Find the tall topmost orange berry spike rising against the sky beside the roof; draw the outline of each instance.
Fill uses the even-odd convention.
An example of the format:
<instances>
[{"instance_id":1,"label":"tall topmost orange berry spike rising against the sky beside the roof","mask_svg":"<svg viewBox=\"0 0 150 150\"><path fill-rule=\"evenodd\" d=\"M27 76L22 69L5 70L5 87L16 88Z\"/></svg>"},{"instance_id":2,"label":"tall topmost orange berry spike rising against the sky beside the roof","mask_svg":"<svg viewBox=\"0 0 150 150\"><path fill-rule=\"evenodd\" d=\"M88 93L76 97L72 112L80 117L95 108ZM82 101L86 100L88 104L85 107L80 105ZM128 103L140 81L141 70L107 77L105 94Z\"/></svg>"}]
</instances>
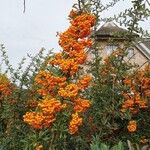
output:
<instances>
[{"instance_id":1,"label":"tall topmost orange berry spike rising against the sky beside the roof","mask_svg":"<svg viewBox=\"0 0 150 150\"><path fill-rule=\"evenodd\" d=\"M87 38L91 33L91 27L95 23L95 16L87 13L78 13L71 11L71 26L69 29L60 34L59 45L63 48L62 53L55 55L50 60L50 64L58 65L63 73L75 75L79 66L82 65L87 54L85 48L92 45L91 39Z\"/></svg>"}]
</instances>

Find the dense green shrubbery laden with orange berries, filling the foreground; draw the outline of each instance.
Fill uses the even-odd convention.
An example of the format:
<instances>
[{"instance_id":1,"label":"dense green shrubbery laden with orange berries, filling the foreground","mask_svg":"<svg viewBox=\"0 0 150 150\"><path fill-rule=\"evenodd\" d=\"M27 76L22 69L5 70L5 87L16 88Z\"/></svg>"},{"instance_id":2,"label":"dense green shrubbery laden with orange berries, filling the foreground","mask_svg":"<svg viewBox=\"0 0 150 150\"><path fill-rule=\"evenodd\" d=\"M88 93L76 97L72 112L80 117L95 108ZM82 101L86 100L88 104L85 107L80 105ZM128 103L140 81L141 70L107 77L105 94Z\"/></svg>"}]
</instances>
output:
<instances>
[{"instance_id":1,"label":"dense green shrubbery laden with orange berries, filling the foreground","mask_svg":"<svg viewBox=\"0 0 150 150\"><path fill-rule=\"evenodd\" d=\"M80 6L81 7L81 6ZM150 142L150 66L127 63L126 47L104 60L90 38L97 16L73 9L59 35L62 52L43 49L24 71L0 74L0 149L123 150ZM87 61L87 50L94 59ZM10 79L8 78L10 77ZM130 142L131 141L131 142Z\"/></svg>"}]
</instances>

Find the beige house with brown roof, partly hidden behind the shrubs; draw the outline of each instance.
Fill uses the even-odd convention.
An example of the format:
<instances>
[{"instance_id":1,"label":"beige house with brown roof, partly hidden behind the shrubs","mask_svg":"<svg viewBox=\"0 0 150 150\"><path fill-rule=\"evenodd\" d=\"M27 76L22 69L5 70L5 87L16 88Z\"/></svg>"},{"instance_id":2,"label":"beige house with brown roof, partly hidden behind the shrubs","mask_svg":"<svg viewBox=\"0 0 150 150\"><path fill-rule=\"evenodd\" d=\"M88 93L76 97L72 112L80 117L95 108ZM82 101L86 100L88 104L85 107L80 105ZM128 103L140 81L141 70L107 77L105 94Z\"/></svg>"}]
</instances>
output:
<instances>
[{"instance_id":1,"label":"beige house with brown roof, partly hidden behind the shrubs","mask_svg":"<svg viewBox=\"0 0 150 150\"><path fill-rule=\"evenodd\" d=\"M114 22L104 23L95 33L102 58L110 55L118 46L123 48L129 31L117 26ZM133 37L133 38L132 38ZM127 48L126 61L143 67L150 62L150 38L139 40L138 34L132 34L131 46Z\"/></svg>"}]
</instances>

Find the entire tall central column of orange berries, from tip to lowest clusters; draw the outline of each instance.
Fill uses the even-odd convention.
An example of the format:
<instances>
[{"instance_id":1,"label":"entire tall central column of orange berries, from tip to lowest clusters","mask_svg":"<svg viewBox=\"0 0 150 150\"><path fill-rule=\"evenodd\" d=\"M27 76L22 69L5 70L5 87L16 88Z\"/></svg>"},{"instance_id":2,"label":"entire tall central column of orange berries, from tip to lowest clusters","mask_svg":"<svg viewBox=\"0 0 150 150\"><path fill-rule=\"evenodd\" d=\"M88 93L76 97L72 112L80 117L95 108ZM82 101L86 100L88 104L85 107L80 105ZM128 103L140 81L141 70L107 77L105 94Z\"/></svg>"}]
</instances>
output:
<instances>
[{"instance_id":1,"label":"entire tall central column of orange berries, from tip to lowest clusters","mask_svg":"<svg viewBox=\"0 0 150 150\"><path fill-rule=\"evenodd\" d=\"M56 120L57 112L71 108L73 114L69 123L69 133L75 134L82 124L82 113L90 107L90 101L81 98L80 92L88 87L91 77L85 75L77 79L76 73L86 61L85 49L92 45L89 35L95 23L95 16L75 10L72 10L69 16L71 26L59 35L59 45L63 51L55 54L48 62L48 65L57 67L62 75L56 76L49 71L37 74L35 84L38 93L51 98L44 98L39 102L37 112L27 112L24 121L37 129L50 127Z\"/></svg>"}]
</instances>

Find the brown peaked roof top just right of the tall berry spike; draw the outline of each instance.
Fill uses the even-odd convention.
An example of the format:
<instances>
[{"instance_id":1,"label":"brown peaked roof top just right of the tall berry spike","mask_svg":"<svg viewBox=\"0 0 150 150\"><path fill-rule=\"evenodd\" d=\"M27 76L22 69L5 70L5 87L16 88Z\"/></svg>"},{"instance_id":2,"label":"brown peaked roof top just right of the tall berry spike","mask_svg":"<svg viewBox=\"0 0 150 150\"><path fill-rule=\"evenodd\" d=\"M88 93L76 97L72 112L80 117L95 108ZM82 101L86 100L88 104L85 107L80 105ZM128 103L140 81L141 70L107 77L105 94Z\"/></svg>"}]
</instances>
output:
<instances>
[{"instance_id":1,"label":"brown peaked roof top just right of the tall berry spike","mask_svg":"<svg viewBox=\"0 0 150 150\"><path fill-rule=\"evenodd\" d=\"M108 38L117 38L117 39L125 39L125 35L128 34L129 31L117 26L114 22L106 22L104 23L95 33L98 39L108 39ZM138 34L134 33L134 36L138 36Z\"/></svg>"}]
</instances>

